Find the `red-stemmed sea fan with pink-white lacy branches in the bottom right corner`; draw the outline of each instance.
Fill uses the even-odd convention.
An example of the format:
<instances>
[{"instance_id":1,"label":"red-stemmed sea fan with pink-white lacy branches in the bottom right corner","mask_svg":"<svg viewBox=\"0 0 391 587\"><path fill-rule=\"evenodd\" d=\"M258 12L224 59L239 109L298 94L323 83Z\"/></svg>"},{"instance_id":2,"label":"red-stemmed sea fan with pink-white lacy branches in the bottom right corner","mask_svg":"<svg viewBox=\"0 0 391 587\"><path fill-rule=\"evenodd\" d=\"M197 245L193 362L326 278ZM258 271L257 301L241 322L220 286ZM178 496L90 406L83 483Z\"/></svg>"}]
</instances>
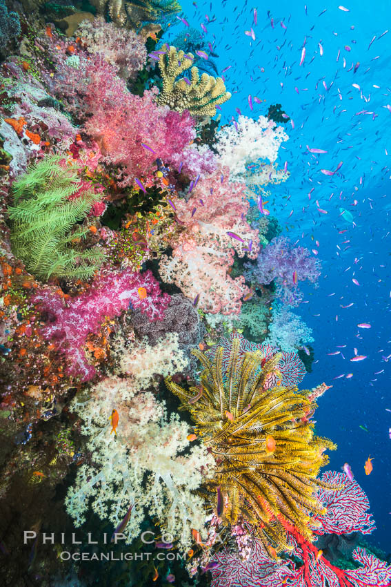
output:
<instances>
[{"instance_id":1,"label":"red-stemmed sea fan with pink-white lacy branches in the bottom right corner","mask_svg":"<svg viewBox=\"0 0 391 587\"><path fill-rule=\"evenodd\" d=\"M324 517L317 517L316 534L337 534L374 530L369 501L356 481L349 481L343 473L327 471L322 481L345 483L335 492L321 488L319 499L328 507ZM282 521L282 520L281 520ZM252 551L241 559L237 551L225 548L214 556L217 567L212 570L212 587L388 587L391 584L391 566L377 559L363 548L356 548L353 559L362 566L342 570L332 565L315 544L300 535L297 528L282 521L290 535L294 550L292 559L270 559L259 541L252 541ZM300 562L299 562L300 561Z\"/></svg>"}]
</instances>

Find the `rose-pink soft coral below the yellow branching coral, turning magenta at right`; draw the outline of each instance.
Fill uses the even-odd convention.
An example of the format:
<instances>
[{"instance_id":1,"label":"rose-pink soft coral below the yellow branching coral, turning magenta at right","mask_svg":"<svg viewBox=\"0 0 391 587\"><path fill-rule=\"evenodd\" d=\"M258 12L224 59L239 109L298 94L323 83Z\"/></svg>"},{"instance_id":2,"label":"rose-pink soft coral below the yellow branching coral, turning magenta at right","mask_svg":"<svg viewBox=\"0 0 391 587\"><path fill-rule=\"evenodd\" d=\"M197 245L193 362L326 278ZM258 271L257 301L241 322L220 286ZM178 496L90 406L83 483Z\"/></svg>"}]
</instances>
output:
<instances>
[{"instance_id":1,"label":"rose-pink soft coral below the yellow branching coral, turning magenta at right","mask_svg":"<svg viewBox=\"0 0 391 587\"><path fill-rule=\"evenodd\" d=\"M106 162L122 167L123 185L146 177L156 169L158 157L170 160L194 139L194 120L188 111L157 106L157 90L146 90L143 97L132 95L100 56L91 60L87 73L83 91L92 116L84 128L98 142Z\"/></svg>"}]
</instances>

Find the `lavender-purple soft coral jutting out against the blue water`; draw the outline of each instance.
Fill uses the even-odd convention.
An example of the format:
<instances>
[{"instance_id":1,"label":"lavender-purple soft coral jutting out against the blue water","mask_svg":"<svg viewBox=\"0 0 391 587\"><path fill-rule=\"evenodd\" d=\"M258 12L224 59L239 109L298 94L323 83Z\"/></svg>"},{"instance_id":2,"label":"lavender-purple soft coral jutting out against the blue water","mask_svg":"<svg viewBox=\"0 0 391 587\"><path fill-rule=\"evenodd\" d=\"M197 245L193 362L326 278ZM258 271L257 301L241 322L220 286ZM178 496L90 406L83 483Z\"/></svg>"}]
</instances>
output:
<instances>
[{"instance_id":1,"label":"lavender-purple soft coral jutting out against the blue water","mask_svg":"<svg viewBox=\"0 0 391 587\"><path fill-rule=\"evenodd\" d=\"M245 278L251 282L268 285L273 280L277 297L285 304L296 306L301 301L299 281L316 283L320 274L320 263L310 257L304 247L294 247L288 238L274 238L262 249L257 264L245 264Z\"/></svg>"}]
</instances>

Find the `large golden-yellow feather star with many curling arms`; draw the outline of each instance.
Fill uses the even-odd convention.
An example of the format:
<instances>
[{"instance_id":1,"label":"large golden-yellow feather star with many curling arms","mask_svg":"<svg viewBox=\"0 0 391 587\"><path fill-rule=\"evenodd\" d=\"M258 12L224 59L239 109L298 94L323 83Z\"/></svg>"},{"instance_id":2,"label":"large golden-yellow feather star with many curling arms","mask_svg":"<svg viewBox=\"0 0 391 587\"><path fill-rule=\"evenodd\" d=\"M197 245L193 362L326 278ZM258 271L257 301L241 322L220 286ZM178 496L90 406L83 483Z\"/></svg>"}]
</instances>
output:
<instances>
[{"instance_id":1,"label":"large golden-yellow feather star with many curling arms","mask_svg":"<svg viewBox=\"0 0 391 587\"><path fill-rule=\"evenodd\" d=\"M213 362L192 351L204 367L201 389L184 389L170 377L166 385L181 400L180 409L189 410L196 422L194 432L216 459L214 479L203 486L212 508L216 510L219 487L225 503L223 523L250 524L275 556L292 550L282 522L293 524L311 541L310 522L314 527L314 517L325 513L317 490L341 489L317 479L328 463L324 451L336 445L314 436L309 418L317 405L312 392L283 385L267 388L281 353L265 361L259 351L240 354L239 345L239 339L232 340L226 369L223 347Z\"/></svg>"}]
</instances>

